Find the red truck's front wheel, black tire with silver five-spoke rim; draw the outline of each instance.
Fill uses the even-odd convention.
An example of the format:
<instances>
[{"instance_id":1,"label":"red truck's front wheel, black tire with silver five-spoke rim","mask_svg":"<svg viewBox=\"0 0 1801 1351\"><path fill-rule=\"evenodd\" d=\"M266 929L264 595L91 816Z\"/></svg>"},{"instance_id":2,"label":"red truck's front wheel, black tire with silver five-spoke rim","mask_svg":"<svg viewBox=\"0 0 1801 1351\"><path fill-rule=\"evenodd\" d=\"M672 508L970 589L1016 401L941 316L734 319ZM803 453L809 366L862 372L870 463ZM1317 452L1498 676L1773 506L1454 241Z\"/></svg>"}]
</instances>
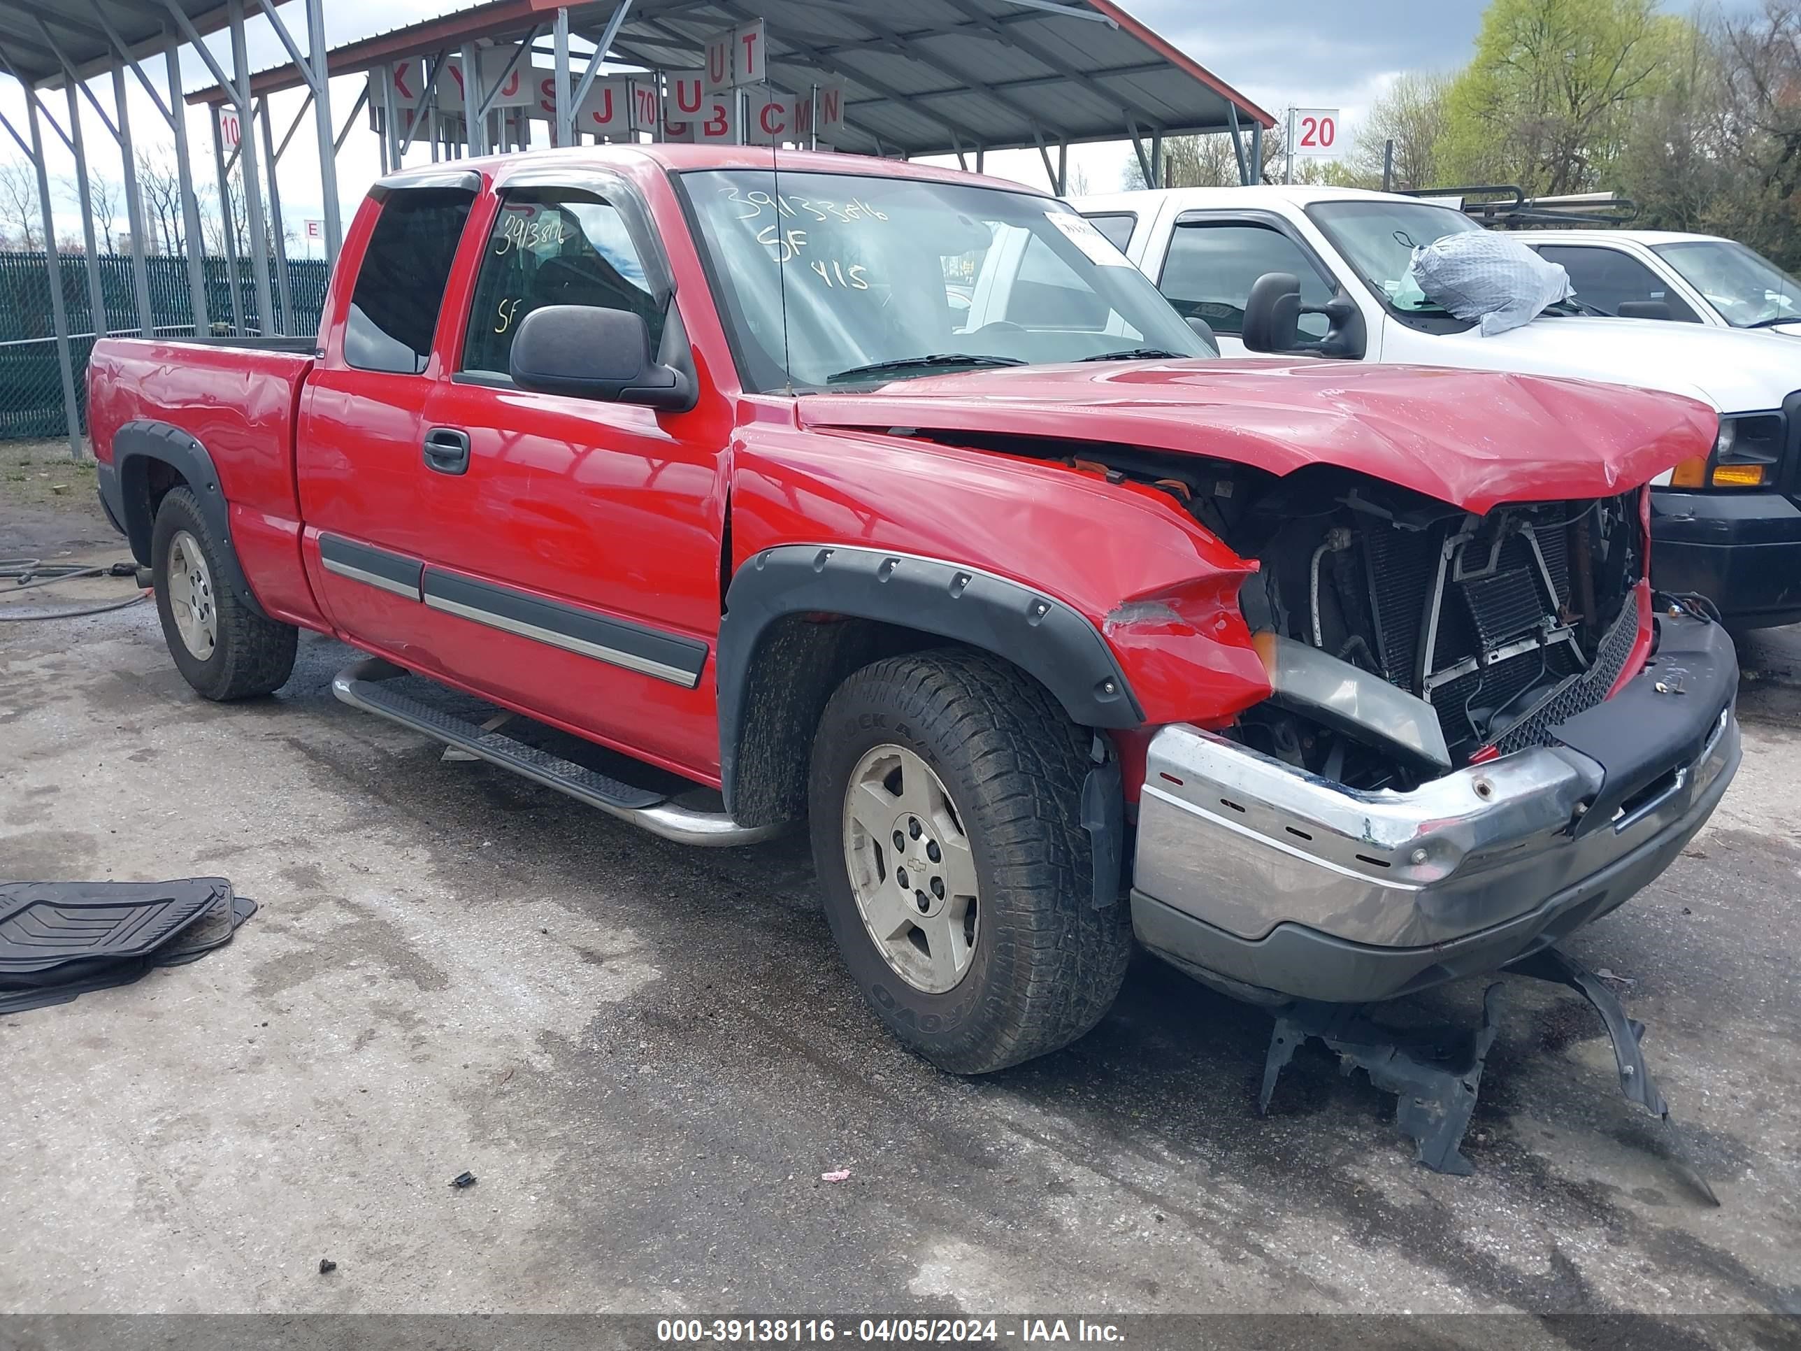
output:
<instances>
[{"instance_id":1,"label":"red truck's front wheel, black tire with silver five-spoke rim","mask_svg":"<svg viewBox=\"0 0 1801 1351\"><path fill-rule=\"evenodd\" d=\"M810 782L827 920L888 1030L944 1070L1057 1050L1118 994L1131 928L1093 904L1090 744L982 652L877 661L827 703Z\"/></svg>"}]
</instances>

